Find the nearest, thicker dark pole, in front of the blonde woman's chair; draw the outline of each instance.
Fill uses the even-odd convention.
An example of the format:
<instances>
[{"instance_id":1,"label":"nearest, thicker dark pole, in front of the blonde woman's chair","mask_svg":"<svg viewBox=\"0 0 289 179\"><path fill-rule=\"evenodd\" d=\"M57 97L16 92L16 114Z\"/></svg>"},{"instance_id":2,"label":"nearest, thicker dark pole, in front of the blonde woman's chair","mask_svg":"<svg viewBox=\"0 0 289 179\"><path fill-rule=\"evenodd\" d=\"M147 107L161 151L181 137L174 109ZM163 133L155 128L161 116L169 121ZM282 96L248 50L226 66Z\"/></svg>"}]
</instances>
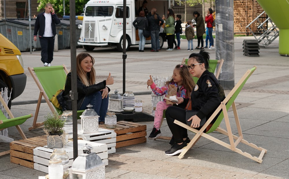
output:
<instances>
[{"instance_id":1,"label":"nearest, thicker dark pole, in front of the blonde woman's chair","mask_svg":"<svg viewBox=\"0 0 289 179\"><path fill-rule=\"evenodd\" d=\"M78 156L77 146L77 72L76 72L76 29L75 29L75 0L69 1L70 7L70 56L71 56L71 100L73 119L73 160Z\"/></svg>"}]
</instances>

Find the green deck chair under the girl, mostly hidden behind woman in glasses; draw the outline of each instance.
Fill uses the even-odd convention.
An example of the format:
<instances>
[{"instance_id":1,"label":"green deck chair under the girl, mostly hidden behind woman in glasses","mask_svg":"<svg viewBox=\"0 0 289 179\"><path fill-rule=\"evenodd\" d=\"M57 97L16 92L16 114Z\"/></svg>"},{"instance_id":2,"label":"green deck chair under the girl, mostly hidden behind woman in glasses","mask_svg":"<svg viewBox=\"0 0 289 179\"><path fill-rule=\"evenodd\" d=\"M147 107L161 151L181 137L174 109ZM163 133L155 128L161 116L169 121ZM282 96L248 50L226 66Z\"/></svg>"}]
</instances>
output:
<instances>
[{"instance_id":1,"label":"green deck chair under the girl, mostly hidden behind woman in glasses","mask_svg":"<svg viewBox=\"0 0 289 179\"><path fill-rule=\"evenodd\" d=\"M217 79L218 79L218 77L219 77L219 75L220 75L220 72L221 72L221 68L222 68L222 66L223 66L223 63L224 63L224 60L223 60L223 59L221 59L221 60L210 60L210 61L209 61L209 66L210 66L209 71L212 72L212 73L215 73L217 64L219 64L218 70L217 70L217 72L216 72L216 78L217 78ZM181 64L186 64L186 65L187 65L187 64L188 64L188 59L183 58ZM199 80L199 78L197 78L197 77L192 77L192 78L193 78L193 80L194 80L195 83L197 83L197 81ZM164 110L163 118L166 118L166 110ZM162 122L163 122L163 120L162 120ZM161 125L160 125L160 126L162 126L162 122L161 122ZM171 140L172 137L159 136L159 137L157 137L157 139Z\"/></svg>"}]
</instances>

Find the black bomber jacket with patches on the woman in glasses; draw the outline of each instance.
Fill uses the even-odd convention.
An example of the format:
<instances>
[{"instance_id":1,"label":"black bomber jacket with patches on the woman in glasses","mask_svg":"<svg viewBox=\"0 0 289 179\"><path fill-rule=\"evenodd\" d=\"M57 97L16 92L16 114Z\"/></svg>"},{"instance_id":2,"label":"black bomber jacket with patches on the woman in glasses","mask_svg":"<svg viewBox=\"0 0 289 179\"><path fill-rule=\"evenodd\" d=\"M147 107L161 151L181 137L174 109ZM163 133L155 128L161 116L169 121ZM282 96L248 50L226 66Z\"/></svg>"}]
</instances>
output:
<instances>
[{"instance_id":1,"label":"black bomber jacket with patches on the woman in glasses","mask_svg":"<svg viewBox=\"0 0 289 179\"><path fill-rule=\"evenodd\" d=\"M206 117L208 120L221 102L225 99L225 93L215 75L206 70L203 72L196 86L194 87L194 90L191 93L191 99L192 109L199 110L196 115L200 119ZM187 105L188 102L189 98L184 98L184 105ZM211 123L216 121L218 115Z\"/></svg>"}]
</instances>

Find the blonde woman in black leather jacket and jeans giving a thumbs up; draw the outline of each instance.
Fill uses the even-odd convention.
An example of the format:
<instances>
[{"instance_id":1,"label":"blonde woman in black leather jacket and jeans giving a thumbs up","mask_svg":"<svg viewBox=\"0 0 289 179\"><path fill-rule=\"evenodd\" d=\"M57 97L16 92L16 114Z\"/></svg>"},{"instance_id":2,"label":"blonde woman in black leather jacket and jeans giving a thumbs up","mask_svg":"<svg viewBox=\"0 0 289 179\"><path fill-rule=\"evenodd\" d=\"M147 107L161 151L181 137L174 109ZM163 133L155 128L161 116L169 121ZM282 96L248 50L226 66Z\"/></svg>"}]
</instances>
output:
<instances>
[{"instance_id":1,"label":"blonde woman in black leather jacket and jeans giving a thumbs up","mask_svg":"<svg viewBox=\"0 0 289 179\"><path fill-rule=\"evenodd\" d=\"M104 117L108 109L108 93L109 87L114 79L110 77L100 83L95 84L95 69L93 64L94 58L88 53L79 53L76 57L77 61L77 110L87 109L87 105L91 104L95 112L100 116L99 123L104 123ZM71 91L71 72L67 74L64 93L62 94L65 104L62 106L63 111L72 110L70 92Z\"/></svg>"}]
</instances>

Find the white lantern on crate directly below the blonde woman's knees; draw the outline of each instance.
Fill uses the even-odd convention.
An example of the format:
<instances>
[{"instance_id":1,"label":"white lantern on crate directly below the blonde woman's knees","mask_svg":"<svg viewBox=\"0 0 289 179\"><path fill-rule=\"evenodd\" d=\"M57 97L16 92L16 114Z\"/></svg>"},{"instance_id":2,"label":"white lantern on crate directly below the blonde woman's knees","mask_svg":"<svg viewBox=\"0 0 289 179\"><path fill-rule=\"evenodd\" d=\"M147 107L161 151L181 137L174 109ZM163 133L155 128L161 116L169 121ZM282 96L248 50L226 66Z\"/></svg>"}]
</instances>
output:
<instances>
[{"instance_id":1,"label":"white lantern on crate directly below the blonde woman's knees","mask_svg":"<svg viewBox=\"0 0 289 179\"><path fill-rule=\"evenodd\" d=\"M92 108L92 105L86 106L88 109L83 111L80 116L81 119L81 132L82 133L95 133L98 132L98 118L99 115Z\"/></svg>"}]
</instances>

